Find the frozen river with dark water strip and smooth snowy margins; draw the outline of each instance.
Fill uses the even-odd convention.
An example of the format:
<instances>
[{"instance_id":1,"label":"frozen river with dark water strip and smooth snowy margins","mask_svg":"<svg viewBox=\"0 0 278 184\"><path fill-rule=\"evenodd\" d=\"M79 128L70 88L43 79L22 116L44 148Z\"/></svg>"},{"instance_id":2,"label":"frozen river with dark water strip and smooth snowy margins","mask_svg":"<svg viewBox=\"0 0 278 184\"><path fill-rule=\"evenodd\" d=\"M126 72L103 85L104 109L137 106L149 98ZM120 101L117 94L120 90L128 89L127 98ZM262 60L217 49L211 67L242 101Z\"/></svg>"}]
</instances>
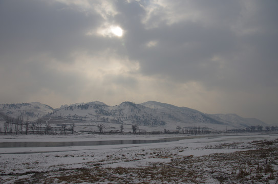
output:
<instances>
[{"instance_id":1,"label":"frozen river with dark water strip and smooth snowy margins","mask_svg":"<svg viewBox=\"0 0 278 184\"><path fill-rule=\"evenodd\" d=\"M95 135L94 135L95 136ZM105 150L118 148L140 147L171 147L171 146L206 146L223 142L251 142L254 140L277 139L278 135L199 135L175 136L171 135L96 135L95 137L51 137L51 136L26 136L0 140L0 154L7 153L47 153L68 152L77 150Z\"/></svg>"}]
</instances>

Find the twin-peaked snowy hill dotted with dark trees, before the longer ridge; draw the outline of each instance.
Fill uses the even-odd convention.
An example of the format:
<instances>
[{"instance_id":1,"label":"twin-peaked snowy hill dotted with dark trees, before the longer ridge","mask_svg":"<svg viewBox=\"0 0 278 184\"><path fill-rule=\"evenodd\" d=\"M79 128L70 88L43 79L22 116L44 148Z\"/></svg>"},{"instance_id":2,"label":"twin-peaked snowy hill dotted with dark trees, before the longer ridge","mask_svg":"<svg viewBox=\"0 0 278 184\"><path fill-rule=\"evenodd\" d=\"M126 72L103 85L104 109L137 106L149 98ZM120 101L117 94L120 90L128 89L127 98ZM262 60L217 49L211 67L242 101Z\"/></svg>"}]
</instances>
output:
<instances>
[{"instance_id":1,"label":"twin-peaked snowy hill dotted with dark trees, before the longer ridge","mask_svg":"<svg viewBox=\"0 0 278 184\"><path fill-rule=\"evenodd\" d=\"M108 106L98 101L73 104L56 110L50 114L50 117L75 121L139 124L146 126L165 125L165 122L161 120L161 116L156 110L132 102L123 102L116 106Z\"/></svg>"}]
</instances>

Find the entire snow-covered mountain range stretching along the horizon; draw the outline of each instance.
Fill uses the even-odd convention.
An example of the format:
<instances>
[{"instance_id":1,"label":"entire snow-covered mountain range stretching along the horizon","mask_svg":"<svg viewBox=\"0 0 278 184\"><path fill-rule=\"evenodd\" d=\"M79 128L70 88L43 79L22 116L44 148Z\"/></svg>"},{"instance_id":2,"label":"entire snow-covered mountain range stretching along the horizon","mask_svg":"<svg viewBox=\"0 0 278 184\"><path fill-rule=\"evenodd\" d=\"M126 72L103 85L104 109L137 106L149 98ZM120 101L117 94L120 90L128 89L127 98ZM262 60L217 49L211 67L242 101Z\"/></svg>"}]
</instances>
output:
<instances>
[{"instance_id":1,"label":"entire snow-covered mountain range stretching along the horizon","mask_svg":"<svg viewBox=\"0 0 278 184\"><path fill-rule=\"evenodd\" d=\"M2 104L0 112L10 117L26 116L29 121L42 121L52 124L85 123L96 126L99 123L149 127L152 130L175 130L177 126L208 127L215 130L244 129L247 126L263 125L257 119L242 118L237 114L206 114L187 107L148 101L141 104L123 102L116 106L108 106L102 102L76 103L62 105L58 109L38 102L23 104ZM147 128L148 129L148 128Z\"/></svg>"}]
</instances>

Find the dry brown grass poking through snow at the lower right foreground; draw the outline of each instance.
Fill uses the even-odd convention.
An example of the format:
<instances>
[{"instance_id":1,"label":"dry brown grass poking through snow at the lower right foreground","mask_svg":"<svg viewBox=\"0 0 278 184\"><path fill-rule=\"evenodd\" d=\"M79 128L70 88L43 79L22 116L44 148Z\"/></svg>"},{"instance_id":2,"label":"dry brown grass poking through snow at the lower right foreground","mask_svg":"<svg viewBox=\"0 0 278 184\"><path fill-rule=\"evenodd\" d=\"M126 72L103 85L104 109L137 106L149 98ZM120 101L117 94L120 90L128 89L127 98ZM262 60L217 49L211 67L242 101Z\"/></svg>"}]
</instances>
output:
<instances>
[{"instance_id":1,"label":"dry brown grass poking through snow at the lower right foreground","mask_svg":"<svg viewBox=\"0 0 278 184\"><path fill-rule=\"evenodd\" d=\"M215 183L268 183L277 179L277 143L277 140L252 142L247 145L252 146L252 150L198 157L172 155L159 150L143 151L137 155L141 159L172 157L172 160L144 168L101 168L100 163L91 163L90 168L34 173L32 177L18 179L15 183L207 183L209 179ZM183 149L177 148L177 152L180 150ZM125 159L125 155L120 156ZM118 159L113 157L108 155L107 159L116 162Z\"/></svg>"}]
</instances>

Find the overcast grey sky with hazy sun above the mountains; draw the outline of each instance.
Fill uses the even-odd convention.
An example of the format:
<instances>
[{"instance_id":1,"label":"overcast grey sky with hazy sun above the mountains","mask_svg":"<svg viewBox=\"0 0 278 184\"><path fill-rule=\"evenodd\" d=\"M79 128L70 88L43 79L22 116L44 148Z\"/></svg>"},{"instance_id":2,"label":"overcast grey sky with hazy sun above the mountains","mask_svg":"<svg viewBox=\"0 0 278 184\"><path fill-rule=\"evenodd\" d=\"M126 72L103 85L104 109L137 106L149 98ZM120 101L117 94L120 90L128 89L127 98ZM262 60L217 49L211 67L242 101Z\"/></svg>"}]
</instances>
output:
<instances>
[{"instance_id":1,"label":"overcast grey sky with hazy sun above the mountains","mask_svg":"<svg viewBox=\"0 0 278 184\"><path fill-rule=\"evenodd\" d=\"M278 1L0 0L0 103L149 100L278 124Z\"/></svg>"}]
</instances>

